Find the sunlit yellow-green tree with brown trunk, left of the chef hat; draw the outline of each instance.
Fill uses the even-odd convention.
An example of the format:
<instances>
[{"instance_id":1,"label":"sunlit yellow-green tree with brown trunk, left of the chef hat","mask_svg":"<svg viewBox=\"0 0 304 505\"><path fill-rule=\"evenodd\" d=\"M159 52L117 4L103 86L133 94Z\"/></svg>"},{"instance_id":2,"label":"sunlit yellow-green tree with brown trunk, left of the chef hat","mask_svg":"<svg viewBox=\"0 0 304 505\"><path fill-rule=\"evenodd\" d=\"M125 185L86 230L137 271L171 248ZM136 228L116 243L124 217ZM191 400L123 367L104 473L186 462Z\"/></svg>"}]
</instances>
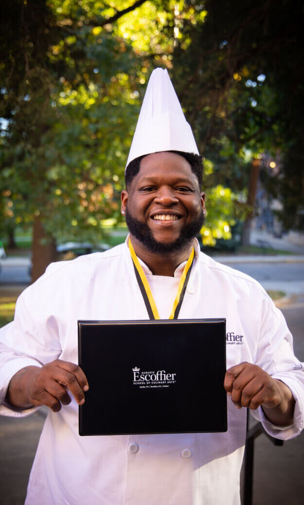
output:
<instances>
[{"instance_id":1,"label":"sunlit yellow-green tree with brown trunk, left of the chef hat","mask_svg":"<svg viewBox=\"0 0 304 505\"><path fill-rule=\"evenodd\" d=\"M10 4L1 35L0 190L6 220L34 223L33 280L54 258L55 238L98 240L105 218L119 222L140 98L154 65L172 67L177 10L172 1ZM227 235L225 226L215 224L217 233Z\"/></svg>"}]
</instances>

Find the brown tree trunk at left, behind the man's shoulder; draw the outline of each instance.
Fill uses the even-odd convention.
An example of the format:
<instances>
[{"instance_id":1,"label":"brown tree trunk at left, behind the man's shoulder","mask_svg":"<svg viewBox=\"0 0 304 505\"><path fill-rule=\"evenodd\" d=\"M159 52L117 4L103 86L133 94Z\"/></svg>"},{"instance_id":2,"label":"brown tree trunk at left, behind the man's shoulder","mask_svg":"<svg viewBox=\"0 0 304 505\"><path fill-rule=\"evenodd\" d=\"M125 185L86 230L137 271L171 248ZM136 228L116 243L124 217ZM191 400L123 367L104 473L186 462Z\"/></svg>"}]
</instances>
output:
<instances>
[{"instance_id":1,"label":"brown tree trunk at left, behind the man's shoulder","mask_svg":"<svg viewBox=\"0 0 304 505\"><path fill-rule=\"evenodd\" d=\"M52 261L56 261L56 241L45 232L40 217L36 217L33 226L32 282L44 273Z\"/></svg>"}]
</instances>

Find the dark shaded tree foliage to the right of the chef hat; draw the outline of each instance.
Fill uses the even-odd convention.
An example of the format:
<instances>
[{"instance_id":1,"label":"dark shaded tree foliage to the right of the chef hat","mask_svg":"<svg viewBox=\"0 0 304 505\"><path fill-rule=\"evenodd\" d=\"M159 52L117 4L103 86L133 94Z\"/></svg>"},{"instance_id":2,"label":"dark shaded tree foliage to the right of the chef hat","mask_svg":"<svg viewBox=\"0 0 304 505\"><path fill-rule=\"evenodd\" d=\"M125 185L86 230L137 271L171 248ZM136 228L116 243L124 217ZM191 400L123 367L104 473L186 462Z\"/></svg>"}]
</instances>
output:
<instances>
[{"instance_id":1,"label":"dark shaded tree foliage to the right of the chef hat","mask_svg":"<svg viewBox=\"0 0 304 505\"><path fill-rule=\"evenodd\" d=\"M207 184L240 191L250 158L279 151L280 173L264 180L280 195L285 226L303 229L302 3L207 0L203 12L201 3L189 5L200 17L196 24L180 19L172 61L200 151L214 165Z\"/></svg>"}]
</instances>

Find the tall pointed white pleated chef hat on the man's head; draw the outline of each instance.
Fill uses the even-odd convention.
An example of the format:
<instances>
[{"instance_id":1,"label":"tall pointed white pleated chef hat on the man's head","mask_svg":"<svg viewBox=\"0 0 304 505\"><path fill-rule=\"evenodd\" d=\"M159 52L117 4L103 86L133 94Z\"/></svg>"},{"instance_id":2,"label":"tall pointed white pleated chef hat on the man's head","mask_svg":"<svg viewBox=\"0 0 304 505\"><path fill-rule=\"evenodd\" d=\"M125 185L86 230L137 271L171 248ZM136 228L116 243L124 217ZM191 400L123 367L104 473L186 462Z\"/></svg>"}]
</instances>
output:
<instances>
[{"instance_id":1,"label":"tall pointed white pleated chef hat on the man's head","mask_svg":"<svg viewBox=\"0 0 304 505\"><path fill-rule=\"evenodd\" d=\"M199 154L169 74L156 68L146 88L126 168L135 158L160 151Z\"/></svg>"}]
</instances>

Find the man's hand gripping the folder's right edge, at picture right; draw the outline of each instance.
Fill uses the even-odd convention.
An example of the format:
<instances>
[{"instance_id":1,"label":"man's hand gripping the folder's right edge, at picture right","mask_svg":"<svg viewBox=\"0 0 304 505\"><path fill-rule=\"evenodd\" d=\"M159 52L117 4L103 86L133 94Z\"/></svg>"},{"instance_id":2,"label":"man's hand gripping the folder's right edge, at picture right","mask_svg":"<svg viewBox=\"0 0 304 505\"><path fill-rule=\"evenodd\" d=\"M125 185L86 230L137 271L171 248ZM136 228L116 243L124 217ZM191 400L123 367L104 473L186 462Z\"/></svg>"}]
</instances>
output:
<instances>
[{"instance_id":1,"label":"man's hand gripping the folder's right edge, at picture right","mask_svg":"<svg viewBox=\"0 0 304 505\"><path fill-rule=\"evenodd\" d=\"M240 363L227 370L224 388L234 405L256 410L262 405L267 418L278 426L293 422L294 398L280 380L251 363Z\"/></svg>"}]
</instances>

